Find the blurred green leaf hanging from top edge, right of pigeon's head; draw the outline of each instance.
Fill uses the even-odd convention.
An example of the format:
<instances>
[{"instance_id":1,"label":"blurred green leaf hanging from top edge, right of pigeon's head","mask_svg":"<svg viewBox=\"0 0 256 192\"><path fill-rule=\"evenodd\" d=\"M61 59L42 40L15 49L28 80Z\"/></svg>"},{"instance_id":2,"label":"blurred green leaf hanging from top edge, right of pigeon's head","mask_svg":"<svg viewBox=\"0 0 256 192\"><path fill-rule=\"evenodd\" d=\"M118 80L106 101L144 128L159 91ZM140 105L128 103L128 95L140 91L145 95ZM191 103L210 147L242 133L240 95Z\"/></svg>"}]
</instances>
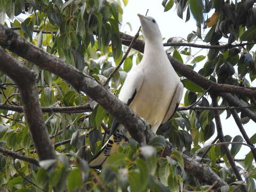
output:
<instances>
[{"instance_id":1,"label":"blurred green leaf hanging from top edge, right of pigeon's head","mask_svg":"<svg viewBox=\"0 0 256 192\"><path fill-rule=\"evenodd\" d=\"M190 11L197 22L202 23L203 17L203 2L202 0L189 0Z\"/></svg>"}]
</instances>

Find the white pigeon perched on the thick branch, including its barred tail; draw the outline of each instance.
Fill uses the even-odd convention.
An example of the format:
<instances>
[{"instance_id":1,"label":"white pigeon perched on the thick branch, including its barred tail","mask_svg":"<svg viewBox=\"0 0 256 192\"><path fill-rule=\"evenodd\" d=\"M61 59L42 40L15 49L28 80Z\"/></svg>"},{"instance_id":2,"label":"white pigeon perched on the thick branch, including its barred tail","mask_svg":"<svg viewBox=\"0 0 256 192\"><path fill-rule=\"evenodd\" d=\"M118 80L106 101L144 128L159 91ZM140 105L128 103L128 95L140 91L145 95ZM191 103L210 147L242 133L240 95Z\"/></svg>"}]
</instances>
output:
<instances>
[{"instance_id":1,"label":"white pigeon perched on the thick branch, including its barred tail","mask_svg":"<svg viewBox=\"0 0 256 192\"><path fill-rule=\"evenodd\" d=\"M139 65L127 75L118 98L145 119L155 133L177 109L182 98L183 84L167 58L156 20L141 14L138 16L145 38L144 56ZM100 168L107 157L116 153L119 145L129 137L124 126L114 121L110 138L94 155L90 166Z\"/></svg>"}]
</instances>

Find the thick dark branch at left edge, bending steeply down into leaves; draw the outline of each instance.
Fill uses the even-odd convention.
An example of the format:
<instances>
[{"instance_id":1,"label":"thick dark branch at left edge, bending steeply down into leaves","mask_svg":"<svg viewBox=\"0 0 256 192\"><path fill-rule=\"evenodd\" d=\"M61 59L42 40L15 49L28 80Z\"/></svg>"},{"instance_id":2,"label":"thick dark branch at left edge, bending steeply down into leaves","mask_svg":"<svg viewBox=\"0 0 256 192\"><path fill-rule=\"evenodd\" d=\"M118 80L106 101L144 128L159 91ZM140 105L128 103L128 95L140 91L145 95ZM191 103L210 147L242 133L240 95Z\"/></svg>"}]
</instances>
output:
<instances>
[{"instance_id":1,"label":"thick dark branch at left edge, bending steeply down into leaves","mask_svg":"<svg viewBox=\"0 0 256 192\"><path fill-rule=\"evenodd\" d=\"M36 74L0 47L0 70L18 85L23 110L40 160L56 157L47 134L36 90Z\"/></svg>"}]
</instances>

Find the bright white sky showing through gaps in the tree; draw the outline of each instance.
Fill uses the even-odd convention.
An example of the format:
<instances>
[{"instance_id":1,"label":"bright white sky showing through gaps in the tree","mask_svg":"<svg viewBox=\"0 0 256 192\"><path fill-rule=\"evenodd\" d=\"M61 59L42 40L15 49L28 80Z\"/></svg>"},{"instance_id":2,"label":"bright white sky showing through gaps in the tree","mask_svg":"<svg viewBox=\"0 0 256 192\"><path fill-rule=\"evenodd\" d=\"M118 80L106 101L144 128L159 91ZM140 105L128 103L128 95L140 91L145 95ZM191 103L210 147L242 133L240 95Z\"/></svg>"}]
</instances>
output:
<instances>
[{"instance_id":1,"label":"bright white sky showing through gaps in the tree","mask_svg":"<svg viewBox=\"0 0 256 192\"><path fill-rule=\"evenodd\" d=\"M158 26L162 31L163 37L166 38L165 41L170 37L176 36L187 39L187 35L191 33L191 31L196 31L196 22L191 14L190 20L185 23L185 20L182 20L178 17L175 10L175 4L170 11L164 12L162 0L129 0L128 5L124 7L121 31L127 31L128 34L135 35L140 26L137 14L140 13L145 15L147 9L149 9L148 15L156 19ZM186 18L186 12L183 14L183 18ZM129 26L125 25L126 22L131 23L132 31L130 31ZM199 43L203 44L203 42ZM199 49L194 49L193 53L196 53L197 51L199 51ZM201 54L205 53L206 52L204 51ZM200 53L198 55L200 55ZM204 62L197 64L199 68L202 68L203 65ZM253 84L255 85L255 82L253 82ZM226 112L221 115L223 133L225 135L229 134L233 138L238 134L241 135L233 117L230 117L228 119L225 118ZM255 123L250 120L249 123L244 125L244 129L249 137L251 137L256 132ZM216 137L216 135L217 133L215 130L214 137ZM244 155L246 155L249 151L249 147L242 146L241 150L236 155L236 158L244 158Z\"/></svg>"}]
</instances>

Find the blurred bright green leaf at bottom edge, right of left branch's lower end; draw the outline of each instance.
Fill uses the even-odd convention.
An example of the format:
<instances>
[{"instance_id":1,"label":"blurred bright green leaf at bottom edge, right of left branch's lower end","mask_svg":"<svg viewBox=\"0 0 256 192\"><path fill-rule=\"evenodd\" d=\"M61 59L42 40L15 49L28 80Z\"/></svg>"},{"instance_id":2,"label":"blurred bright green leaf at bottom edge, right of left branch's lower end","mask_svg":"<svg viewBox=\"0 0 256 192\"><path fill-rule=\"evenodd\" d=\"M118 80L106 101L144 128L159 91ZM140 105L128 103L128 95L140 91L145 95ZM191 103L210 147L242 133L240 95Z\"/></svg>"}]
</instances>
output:
<instances>
[{"instance_id":1,"label":"blurred bright green leaf at bottom edge, right of left branch's lower end","mask_svg":"<svg viewBox=\"0 0 256 192\"><path fill-rule=\"evenodd\" d=\"M79 169L73 169L68 174L67 179L68 191L75 191L82 186L82 175Z\"/></svg>"}]
</instances>

